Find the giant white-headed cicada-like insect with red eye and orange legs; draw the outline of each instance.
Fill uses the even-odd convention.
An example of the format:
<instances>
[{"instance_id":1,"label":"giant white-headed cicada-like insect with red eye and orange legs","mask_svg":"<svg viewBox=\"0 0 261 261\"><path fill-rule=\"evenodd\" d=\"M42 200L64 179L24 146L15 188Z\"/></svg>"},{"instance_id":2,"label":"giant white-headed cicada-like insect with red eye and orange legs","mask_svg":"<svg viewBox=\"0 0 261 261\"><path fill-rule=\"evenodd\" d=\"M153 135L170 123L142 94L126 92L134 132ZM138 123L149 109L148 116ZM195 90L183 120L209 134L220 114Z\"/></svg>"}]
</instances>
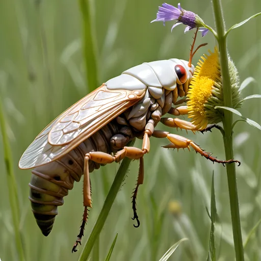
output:
<instances>
[{"instance_id":1,"label":"giant white-headed cicada-like insect with red eye and orange legs","mask_svg":"<svg viewBox=\"0 0 261 261\"><path fill-rule=\"evenodd\" d=\"M124 71L77 101L51 122L23 153L19 167L31 169L30 200L36 222L44 236L51 231L57 207L73 188L74 181L84 176L84 215L80 233L72 251L80 242L91 207L89 173L100 165L120 162L124 157L140 161L138 182L133 194L134 219L138 187L143 183L143 156L150 149L150 137L167 138L167 148L193 147L206 159L220 161L185 137L155 130L162 122L170 127L197 131L192 123L178 118L164 118L166 113L186 115L185 99L194 73L191 64L193 46L188 61L170 59L143 63ZM135 137L143 139L142 148L128 147Z\"/></svg>"}]
</instances>

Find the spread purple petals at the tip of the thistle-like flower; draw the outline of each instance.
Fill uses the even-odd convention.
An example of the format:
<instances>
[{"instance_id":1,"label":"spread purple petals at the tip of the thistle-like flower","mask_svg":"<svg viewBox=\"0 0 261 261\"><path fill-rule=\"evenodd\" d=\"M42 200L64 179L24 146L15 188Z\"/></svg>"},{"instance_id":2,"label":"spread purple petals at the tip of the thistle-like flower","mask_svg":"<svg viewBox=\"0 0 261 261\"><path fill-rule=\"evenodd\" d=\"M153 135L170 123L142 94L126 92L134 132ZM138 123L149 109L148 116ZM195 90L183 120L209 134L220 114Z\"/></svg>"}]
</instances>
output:
<instances>
[{"instance_id":1,"label":"spread purple petals at the tip of the thistle-like flower","mask_svg":"<svg viewBox=\"0 0 261 261\"><path fill-rule=\"evenodd\" d=\"M151 22L177 20L180 14L181 11L178 8L164 3L162 7L159 7L157 18Z\"/></svg>"}]
</instances>

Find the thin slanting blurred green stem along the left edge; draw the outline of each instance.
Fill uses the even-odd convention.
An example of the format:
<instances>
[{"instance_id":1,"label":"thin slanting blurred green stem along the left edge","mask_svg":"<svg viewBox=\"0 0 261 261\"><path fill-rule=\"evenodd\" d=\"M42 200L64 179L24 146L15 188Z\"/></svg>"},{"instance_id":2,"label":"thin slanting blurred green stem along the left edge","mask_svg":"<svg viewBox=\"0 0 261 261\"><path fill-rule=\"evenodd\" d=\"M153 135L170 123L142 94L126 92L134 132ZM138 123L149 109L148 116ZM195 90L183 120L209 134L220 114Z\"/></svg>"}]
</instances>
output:
<instances>
[{"instance_id":1,"label":"thin slanting blurred green stem along the left edge","mask_svg":"<svg viewBox=\"0 0 261 261\"><path fill-rule=\"evenodd\" d=\"M19 260L25 261L23 247L22 247L22 238L19 230L20 211L19 211L17 185L14 177L12 153L8 141L7 132L6 132L6 123L5 123L1 99L0 99L0 125L1 125L1 132L3 138L4 160L5 160L6 173L7 173L7 186L8 186L9 200L11 205L12 219L13 219L16 249L17 249L17 254L19 256Z\"/></svg>"}]
</instances>

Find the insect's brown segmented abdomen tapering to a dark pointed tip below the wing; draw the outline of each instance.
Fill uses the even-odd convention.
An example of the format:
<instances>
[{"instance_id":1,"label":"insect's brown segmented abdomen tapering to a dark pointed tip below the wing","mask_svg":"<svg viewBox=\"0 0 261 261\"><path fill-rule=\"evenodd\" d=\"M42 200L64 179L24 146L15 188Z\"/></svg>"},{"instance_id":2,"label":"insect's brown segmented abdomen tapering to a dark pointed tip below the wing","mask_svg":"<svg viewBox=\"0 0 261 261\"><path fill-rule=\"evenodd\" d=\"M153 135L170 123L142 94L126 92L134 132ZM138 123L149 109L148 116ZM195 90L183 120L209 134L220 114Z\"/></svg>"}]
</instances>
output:
<instances>
[{"instance_id":1,"label":"insect's brown segmented abdomen tapering to a dark pointed tip below the wing","mask_svg":"<svg viewBox=\"0 0 261 261\"><path fill-rule=\"evenodd\" d=\"M80 181L83 174L84 155L90 151L111 153L110 139L118 133L118 125L108 123L71 150L61 159L35 168L30 181L32 211L44 236L53 228L57 207L63 205L63 197L73 188L74 181ZM89 172L98 169L99 164L89 161Z\"/></svg>"}]
</instances>

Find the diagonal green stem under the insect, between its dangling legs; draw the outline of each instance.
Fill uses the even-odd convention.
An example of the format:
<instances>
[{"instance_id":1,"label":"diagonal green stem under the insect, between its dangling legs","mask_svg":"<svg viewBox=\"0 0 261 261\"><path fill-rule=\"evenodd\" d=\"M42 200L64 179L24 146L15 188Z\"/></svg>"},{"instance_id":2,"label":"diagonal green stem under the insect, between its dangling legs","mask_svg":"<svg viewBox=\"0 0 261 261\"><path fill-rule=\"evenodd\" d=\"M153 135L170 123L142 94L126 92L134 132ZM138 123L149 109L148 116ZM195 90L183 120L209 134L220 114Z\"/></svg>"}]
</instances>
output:
<instances>
[{"instance_id":1,"label":"diagonal green stem under the insect, between its dangling legs","mask_svg":"<svg viewBox=\"0 0 261 261\"><path fill-rule=\"evenodd\" d=\"M128 146L133 146L135 140L130 142ZM124 158L118 171L117 174L114 178L113 184L111 186L111 189L106 197L106 200L102 206L102 209L100 211L100 214L98 216L98 219L90 233L90 236L87 240L87 242L84 245L83 252L81 253L81 256L79 258L79 261L86 261L91 253L91 250L93 248L93 245L97 238L99 237L100 231L105 224L105 221L109 215L109 212L111 210L112 204L116 198L116 195L121 187L122 181L124 180L124 177L126 175L126 172L128 170L128 166L131 163L131 159Z\"/></svg>"}]
</instances>

